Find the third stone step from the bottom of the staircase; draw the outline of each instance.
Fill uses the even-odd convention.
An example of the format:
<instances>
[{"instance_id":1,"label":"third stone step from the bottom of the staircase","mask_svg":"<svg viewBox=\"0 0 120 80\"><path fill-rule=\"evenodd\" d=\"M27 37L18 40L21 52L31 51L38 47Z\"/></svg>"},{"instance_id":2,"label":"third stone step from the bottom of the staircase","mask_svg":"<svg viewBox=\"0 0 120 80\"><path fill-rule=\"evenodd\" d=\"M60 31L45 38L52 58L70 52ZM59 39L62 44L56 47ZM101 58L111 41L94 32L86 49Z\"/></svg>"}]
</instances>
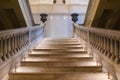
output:
<instances>
[{"instance_id":1,"label":"third stone step from the bottom of the staircase","mask_svg":"<svg viewBox=\"0 0 120 80\"><path fill-rule=\"evenodd\" d=\"M97 66L97 63L94 61L39 61L26 59L25 61L21 61L22 66L39 66L39 67L91 67ZM100 66L100 65L99 65Z\"/></svg>"}]
</instances>

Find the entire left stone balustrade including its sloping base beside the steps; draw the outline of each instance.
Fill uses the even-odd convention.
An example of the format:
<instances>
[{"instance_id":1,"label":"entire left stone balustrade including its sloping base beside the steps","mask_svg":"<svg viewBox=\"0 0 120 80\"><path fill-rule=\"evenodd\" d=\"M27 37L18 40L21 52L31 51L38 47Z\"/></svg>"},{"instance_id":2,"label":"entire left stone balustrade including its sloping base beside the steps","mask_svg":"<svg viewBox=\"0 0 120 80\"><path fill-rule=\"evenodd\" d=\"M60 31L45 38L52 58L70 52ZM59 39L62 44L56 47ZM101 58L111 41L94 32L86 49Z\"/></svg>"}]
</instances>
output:
<instances>
[{"instance_id":1,"label":"entire left stone balustrade including its sloping base beside the steps","mask_svg":"<svg viewBox=\"0 0 120 80\"><path fill-rule=\"evenodd\" d=\"M0 32L0 79L43 36L44 25ZM28 52L26 52L28 53Z\"/></svg>"}]
</instances>

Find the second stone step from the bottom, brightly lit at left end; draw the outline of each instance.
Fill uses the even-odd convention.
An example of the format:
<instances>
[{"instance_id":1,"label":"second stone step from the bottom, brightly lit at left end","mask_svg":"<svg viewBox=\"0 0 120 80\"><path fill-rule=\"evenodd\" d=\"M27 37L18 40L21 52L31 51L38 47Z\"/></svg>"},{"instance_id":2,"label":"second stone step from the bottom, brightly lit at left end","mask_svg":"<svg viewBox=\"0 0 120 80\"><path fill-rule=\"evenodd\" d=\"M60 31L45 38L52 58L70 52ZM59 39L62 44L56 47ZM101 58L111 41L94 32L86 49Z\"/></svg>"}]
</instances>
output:
<instances>
[{"instance_id":1,"label":"second stone step from the bottom, brightly lit at left end","mask_svg":"<svg viewBox=\"0 0 120 80\"><path fill-rule=\"evenodd\" d=\"M75 66L75 67L39 67L20 66L16 68L17 73L81 73L81 72L102 72L101 66Z\"/></svg>"}]
</instances>

